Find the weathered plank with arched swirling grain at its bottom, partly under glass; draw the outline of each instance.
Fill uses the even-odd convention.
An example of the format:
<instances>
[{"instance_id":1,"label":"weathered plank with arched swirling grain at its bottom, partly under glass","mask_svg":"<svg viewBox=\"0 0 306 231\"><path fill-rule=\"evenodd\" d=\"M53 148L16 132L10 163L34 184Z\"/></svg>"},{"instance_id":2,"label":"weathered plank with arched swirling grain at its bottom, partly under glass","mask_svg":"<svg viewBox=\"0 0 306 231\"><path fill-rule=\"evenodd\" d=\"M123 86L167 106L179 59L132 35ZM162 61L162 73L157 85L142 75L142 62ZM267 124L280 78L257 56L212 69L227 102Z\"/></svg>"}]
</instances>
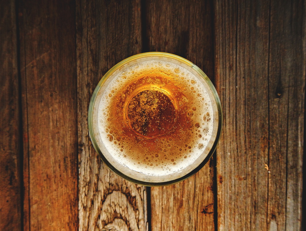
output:
<instances>
[{"instance_id":1,"label":"weathered plank with arched swirling grain at its bottom, partly under glass","mask_svg":"<svg viewBox=\"0 0 306 231\"><path fill-rule=\"evenodd\" d=\"M88 106L102 76L141 53L140 1L76 2L80 230L147 230L146 187L100 160L88 133Z\"/></svg>"}]
</instances>

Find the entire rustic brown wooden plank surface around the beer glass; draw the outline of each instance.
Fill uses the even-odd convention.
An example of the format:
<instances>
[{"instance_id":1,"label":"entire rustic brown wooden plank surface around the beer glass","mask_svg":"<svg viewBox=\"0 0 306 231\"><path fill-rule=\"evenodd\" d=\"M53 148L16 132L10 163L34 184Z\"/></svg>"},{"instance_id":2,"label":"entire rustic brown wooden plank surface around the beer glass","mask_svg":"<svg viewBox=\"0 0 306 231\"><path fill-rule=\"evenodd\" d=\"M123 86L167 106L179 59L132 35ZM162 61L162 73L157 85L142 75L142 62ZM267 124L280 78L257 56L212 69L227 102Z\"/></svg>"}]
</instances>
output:
<instances>
[{"instance_id":1,"label":"entire rustic brown wooden plank surface around the beer glass","mask_svg":"<svg viewBox=\"0 0 306 231\"><path fill-rule=\"evenodd\" d=\"M167 187L115 175L88 133L98 81L148 51L203 69L224 114ZM0 230L302 230L305 72L304 0L0 1Z\"/></svg>"}]
</instances>

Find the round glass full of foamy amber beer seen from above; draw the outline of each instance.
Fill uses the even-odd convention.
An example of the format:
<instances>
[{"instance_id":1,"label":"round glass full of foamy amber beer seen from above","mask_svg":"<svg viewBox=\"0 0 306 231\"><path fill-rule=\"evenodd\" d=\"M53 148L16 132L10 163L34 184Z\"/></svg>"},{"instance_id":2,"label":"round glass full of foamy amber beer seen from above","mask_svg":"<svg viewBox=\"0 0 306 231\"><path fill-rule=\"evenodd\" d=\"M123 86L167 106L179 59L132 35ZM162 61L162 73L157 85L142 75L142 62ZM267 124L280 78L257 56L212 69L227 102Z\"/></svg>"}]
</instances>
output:
<instances>
[{"instance_id":1,"label":"round glass full of foamy amber beer seen from above","mask_svg":"<svg viewBox=\"0 0 306 231\"><path fill-rule=\"evenodd\" d=\"M133 183L163 186L199 171L216 149L222 109L207 75L190 61L147 52L112 67L88 111L103 162Z\"/></svg>"}]
</instances>

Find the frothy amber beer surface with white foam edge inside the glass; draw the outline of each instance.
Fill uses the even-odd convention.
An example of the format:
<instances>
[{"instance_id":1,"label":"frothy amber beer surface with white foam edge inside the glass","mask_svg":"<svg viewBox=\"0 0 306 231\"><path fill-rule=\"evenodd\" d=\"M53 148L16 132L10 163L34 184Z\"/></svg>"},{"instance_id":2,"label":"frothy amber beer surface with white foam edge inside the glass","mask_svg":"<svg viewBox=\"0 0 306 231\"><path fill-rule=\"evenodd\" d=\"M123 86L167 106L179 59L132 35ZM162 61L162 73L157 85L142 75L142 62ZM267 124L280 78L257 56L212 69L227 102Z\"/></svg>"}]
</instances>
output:
<instances>
[{"instance_id":1,"label":"frothy amber beer surface with white foam edge inside the glass","mask_svg":"<svg viewBox=\"0 0 306 231\"><path fill-rule=\"evenodd\" d=\"M114 160L150 176L169 175L194 163L207 148L214 121L212 102L201 78L196 71L192 73L171 60L140 61L114 72L107 87L98 93L102 94L98 108L99 135ZM171 117L173 121L165 122L169 125L166 128L160 121L155 126L157 122L151 118L152 110L158 106L154 104L157 99L151 96L155 94L153 91L163 92L166 96L160 95L165 102L173 103L177 113ZM137 108L130 113L137 94L144 101L135 104ZM152 113L145 114L140 105ZM160 110L169 112L169 108ZM136 118L135 123L131 123L129 114ZM139 127L145 131L137 132ZM150 133L147 129L151 129Z\"/></svg>"}]
</instances>

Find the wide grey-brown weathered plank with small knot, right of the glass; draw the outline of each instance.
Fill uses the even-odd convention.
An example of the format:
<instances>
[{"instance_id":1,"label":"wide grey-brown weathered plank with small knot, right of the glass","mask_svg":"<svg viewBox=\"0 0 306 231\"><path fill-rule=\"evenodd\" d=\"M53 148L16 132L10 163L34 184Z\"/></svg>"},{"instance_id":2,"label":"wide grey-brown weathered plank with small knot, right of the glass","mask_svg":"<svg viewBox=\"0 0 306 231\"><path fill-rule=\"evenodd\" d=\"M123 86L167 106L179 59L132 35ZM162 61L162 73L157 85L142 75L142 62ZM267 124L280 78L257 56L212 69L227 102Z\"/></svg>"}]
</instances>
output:
<instances>
[{"instance_id":1,"label":"wide grey-brown weathered plank with small knot, right of the glass","mask_svg":"<svg viewBox=\"0 0 306 231\"><path fill-rule=\"evenodd\" d=\"M303 7L215 2L218 230L301 229Z\"/></svg>"}]
</instances>

